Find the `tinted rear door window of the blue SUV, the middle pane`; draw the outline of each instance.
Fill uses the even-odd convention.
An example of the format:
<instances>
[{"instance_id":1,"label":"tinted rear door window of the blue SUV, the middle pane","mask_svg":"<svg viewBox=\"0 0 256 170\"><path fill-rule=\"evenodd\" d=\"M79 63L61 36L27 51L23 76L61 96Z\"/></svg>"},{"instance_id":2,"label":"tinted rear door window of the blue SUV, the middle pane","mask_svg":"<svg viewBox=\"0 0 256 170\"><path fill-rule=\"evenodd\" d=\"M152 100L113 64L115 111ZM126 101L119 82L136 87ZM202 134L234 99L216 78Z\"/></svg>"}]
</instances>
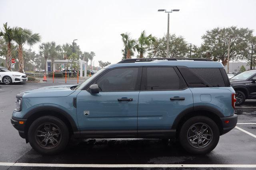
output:
<instances>
[{"instance_id":1,"label":"tinted rear door window of the blue SUV, the middle pane","mask_svg":"<svg viewBox=\"0 0 256 170\"><path fill-rule=\"evenodd\" d=\"M148 67L146 71L146 90L174 90L184 88L172 67Z\"/></svg>"}]
</instances>

